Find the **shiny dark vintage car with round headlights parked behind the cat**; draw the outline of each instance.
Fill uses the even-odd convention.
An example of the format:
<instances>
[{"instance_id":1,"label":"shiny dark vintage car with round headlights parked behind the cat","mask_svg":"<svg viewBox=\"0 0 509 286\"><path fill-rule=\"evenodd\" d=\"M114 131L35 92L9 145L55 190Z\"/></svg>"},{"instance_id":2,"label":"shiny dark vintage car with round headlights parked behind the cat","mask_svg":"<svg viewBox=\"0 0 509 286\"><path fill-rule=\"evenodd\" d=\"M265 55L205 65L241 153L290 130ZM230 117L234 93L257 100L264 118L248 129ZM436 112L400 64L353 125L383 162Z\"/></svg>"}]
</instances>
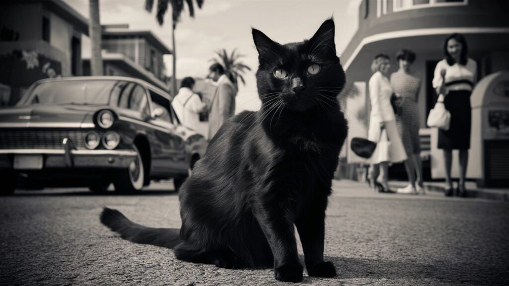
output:
<instances>
[{"instance_id":1,"label":"shiny dark vintage car with round headlights parked behind the cat","mask_svg":"<svg viewBox=\"0 0 509 286\"><path fill-rule=\"evenodd\" d=\"M171 100L129 77L35 82L16 106L0 109L0 192L13 193L19 178L97 192L173 178L178 190L207 142L180 124Z\"/></svg>"}]
</instances>

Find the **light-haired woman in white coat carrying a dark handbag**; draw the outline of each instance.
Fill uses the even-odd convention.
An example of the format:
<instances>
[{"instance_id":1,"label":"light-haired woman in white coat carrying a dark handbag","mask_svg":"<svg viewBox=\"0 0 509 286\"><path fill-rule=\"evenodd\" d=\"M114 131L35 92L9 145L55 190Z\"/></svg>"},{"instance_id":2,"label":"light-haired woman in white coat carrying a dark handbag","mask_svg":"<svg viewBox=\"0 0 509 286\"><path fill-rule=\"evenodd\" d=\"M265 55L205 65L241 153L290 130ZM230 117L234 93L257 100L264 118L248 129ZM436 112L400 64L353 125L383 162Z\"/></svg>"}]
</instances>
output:
<instances>
[{"instance_id":1,"label":"light-haired woman in white coat carrying a dark handbag","mask_svg":"<svg viewBox=\"0 0 509 286\"><path fill-rule=\"evenodd\" d=\"M381 192L392 192L388 185L388 163L401 162L407 159L403 143L398 134L394 111L390 104L393 93L388 79L390 69L389 56L378 54L371 65L373 76L370 78L369 91L371 100L370 128L368 139L378 142L371 157L371 176L375 188ZM390 143L387 143L390 142ZM388 149L387 149L388 147ZM382 181L378 181L382 167Z\"/></svg>"}]
</instances>

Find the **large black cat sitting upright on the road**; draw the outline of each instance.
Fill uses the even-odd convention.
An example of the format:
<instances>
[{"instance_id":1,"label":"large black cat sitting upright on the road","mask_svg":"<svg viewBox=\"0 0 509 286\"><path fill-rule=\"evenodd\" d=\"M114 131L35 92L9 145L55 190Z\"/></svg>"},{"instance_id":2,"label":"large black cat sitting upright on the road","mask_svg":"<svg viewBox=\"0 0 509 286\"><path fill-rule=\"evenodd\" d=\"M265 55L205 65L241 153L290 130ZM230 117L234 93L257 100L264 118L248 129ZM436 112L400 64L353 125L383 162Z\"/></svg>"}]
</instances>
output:
<instances>
[{"instance_id":1,"label":"large black cat sitting upright on the road","mask_svg":"<svg viewBox=\"0 0 509 286\"><path fill-rule=\"evenodd\" d=\"M179 193L182 228L149 228L105 208L101 221L125 239L175 248L177 259L223 268L273 266L277 280L302 280L294 225L310 276L325 262L327 196L347 135L336 100L345 73L334 22L310 40L280 45L252 30L262 108L225 122Z\"/></svg>"}]
</instances>

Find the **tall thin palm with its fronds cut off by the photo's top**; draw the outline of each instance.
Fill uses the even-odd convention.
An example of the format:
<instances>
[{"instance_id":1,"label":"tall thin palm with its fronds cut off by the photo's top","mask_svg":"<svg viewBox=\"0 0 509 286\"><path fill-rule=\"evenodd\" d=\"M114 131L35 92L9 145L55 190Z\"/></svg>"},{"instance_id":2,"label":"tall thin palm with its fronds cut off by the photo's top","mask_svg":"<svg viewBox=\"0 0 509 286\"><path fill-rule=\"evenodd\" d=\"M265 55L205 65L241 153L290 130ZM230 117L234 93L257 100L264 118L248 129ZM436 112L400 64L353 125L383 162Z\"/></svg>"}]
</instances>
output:
<instances>
[{"instance_id":1,"label":"tall thin palm with its fronds cut off by the photo's top","mask_svg":"<svg viewBox=\"0 0 509 286\"><path fill-rule=\"evenodd\" d=\"M198 8L202 8L205 0L196 0ZM177 53L175 51L175 28L180 19L180 14L184 10L184 0L157 0L157 13L156 19L159 25L164 22L164 15L168 10L168 2L172 5L172 45L173 45L173 79L172 79L172 95L177 95ZM185 0L187 7L189 8L189 16L194 18L194 5L192 0ZM154 0L145 0L145 9L152 12L154 6Z\"/></svg>"}]
</instances>

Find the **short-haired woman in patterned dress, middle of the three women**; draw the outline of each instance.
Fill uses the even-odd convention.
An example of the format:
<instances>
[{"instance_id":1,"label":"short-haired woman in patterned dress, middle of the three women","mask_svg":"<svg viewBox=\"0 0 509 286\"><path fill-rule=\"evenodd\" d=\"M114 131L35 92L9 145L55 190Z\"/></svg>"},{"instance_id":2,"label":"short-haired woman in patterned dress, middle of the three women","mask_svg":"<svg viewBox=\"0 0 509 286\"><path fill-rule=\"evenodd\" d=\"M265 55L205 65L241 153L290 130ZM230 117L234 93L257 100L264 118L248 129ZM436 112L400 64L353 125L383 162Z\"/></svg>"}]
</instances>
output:
<instances>
[{"instance_id":1,"label":"short-haired woman in patterned dress, middle of the three women","mask_svg":"<svg viewBox=\"0 0 509 286\"><path fill-rule=\"evenodd\" d=\"M408 157L405 160L405 168L408 180L410 181L407 187L398 189L398 192L424 193L422 162L420 159L419 108L417 107L417 95L419 94L421 83L420 75L411 69L415 61L415 53L413 51L400 50L396 54L396 59L400 69L391 74L390 84L394 93L399 98L396 123Z\"/></svg>"}]
</instances>

